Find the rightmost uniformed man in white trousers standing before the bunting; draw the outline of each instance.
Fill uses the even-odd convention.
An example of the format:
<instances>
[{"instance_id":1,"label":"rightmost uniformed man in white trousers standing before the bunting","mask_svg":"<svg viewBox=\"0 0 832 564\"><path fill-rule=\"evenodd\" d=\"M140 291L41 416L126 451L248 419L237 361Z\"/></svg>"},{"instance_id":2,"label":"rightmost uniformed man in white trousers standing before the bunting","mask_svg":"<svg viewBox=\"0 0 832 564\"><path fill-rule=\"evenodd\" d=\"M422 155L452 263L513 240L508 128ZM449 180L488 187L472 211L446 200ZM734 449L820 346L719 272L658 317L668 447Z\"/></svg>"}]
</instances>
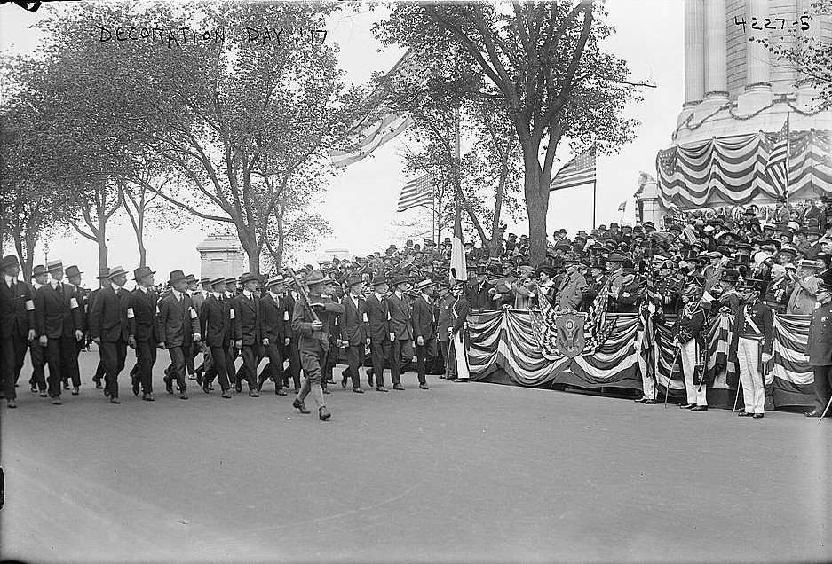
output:
<instances>
[{"instance_id":1,"label":"rightmost uniformed man in white trousers standing before the bunting","mask_svg":"<svg viewBox=\"0 0 832 564\"><path fill-rule=\"evenodd\" d=\"M740 382L745 409L741 417L764 417L765 381L763 368L772 359L774 320L772 309L760 302L760 292L766 286L763 279L750 278L742 287L745 302L737 317L736 332L740 335L737 359L740 363ZM739 393L739 391L737 392Z\"/></svg>"}]
</instances>

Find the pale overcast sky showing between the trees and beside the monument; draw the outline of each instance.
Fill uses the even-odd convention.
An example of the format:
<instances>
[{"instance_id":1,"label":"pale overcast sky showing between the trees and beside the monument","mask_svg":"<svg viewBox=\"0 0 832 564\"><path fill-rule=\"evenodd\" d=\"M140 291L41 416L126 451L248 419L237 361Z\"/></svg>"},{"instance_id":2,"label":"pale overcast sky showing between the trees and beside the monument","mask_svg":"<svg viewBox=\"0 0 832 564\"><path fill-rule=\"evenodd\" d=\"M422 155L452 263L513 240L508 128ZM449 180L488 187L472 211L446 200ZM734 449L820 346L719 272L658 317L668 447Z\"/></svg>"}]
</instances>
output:
<instances>
[{"instance_id":1,"label":"pale overcast sky showing between the trees and beside the monument","mask_svg":"<svg viewBox=\"0 0 832 564\"><path fill-rule=\"evenodd\" d=\"M25 12L13 4L0 6L0 49L4 52L31 52L37 48L39 34L28 29L56 4L43 4L36 13ZM643 102L630 106L625 117L641 121L637 139L624 145L617 155L598 158L598 223L612 221L632 223L638 173L644 170L655 176L655 155L670 146L670 133L676 127L684 97L683 0L608 0L607 22L617 34L606 42L629 63L632 79L652 82L655 89L643 89ZM373 71L386 71L399 59L400 50L385 49L370 32L381 11L344 12L330 20L327 42L338 43L339 60L345 69L346 83L364 83ZM345 248L354 255L384 250L389 244L403 245L407 236L397 230L395 222L409 213L396 213L401 186L409 178L402 173L400 154L406 152L400 136L377 149L372 156L339 173L323 197L321 215L329 220L333 234L321 241L313 252L298 257L299 263L313 262L325 249ZM571 157L565 144L558 152L555 169ZM619 204L628 200L622 218ZM404 217L403 217L404 216ZM527 225L509 223L509 231L527 232ZM590 230L592 223L591 187L572 188L551 194L547 230L563 227L574 234ZM109 263L126 270L138 266L139 253L126 217L116 219L109 228ZM200 258L196 245L210 231L200 223L183 222L180 230L155 230L146 235L147 262L156 270L156 279L167 279L170 270L185 270L199 276ZM52 240L49 258L63 259L64 265L77 264L85 272L85 286L95 286L98 271L97 247L80 236ZM36 263L45 261L44 246L39 245Z\"/></svg>"}]
</instances>

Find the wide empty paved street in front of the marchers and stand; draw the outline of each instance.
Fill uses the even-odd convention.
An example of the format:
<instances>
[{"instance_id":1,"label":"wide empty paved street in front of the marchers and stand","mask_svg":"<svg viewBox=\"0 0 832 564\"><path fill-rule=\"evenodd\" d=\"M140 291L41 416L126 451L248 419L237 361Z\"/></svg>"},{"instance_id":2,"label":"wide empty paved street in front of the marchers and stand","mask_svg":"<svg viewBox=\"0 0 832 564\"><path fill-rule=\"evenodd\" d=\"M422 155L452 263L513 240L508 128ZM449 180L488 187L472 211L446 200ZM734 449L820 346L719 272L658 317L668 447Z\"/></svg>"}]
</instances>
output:
<instances>
[{"instance_id":1,"label":"wide empty paved street in front of the marchers and stand","mask_svg":"<svg viewBox=\"0 0 832 564\"><path fill-rule=\"evenodd\" d=\"M155 403L123 386L111 405L96 357L61 406L27 366L0 414L4 559L832 560L832 421L408 373L405 392L338 385L323 423L271 384L169 396L164 354Z\"/></svg>"}]
</instances>

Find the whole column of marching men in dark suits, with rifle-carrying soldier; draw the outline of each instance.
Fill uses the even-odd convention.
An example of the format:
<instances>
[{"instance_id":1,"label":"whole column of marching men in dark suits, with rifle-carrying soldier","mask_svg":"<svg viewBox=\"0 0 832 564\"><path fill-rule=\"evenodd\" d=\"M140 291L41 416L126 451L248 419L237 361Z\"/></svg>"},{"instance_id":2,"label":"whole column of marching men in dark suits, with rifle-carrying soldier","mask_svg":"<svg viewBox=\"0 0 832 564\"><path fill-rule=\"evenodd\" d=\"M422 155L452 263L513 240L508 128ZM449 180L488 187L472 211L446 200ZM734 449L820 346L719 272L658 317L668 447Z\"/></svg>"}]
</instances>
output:
<instances>
[{"instance_id":1,"label":"whole column of marching men in dark suits, with rifle-carrying soldier","mask_svg":"<svg viewBox=\"0 0 832 564\"><path fill-rule=\"evenodd\" d=\"M120 383L125 379L120 382L120 376L129 350L135 362L127 380L133 394L144 401L155 401L153 371L162 349L169 357L163 361L169 362L162 378L165 389L182 400L189 397L188 380L196 380L206 394L218 382L225 399L232 397L232 388L242 392L243 383L250 397L258 397L265 382L272 381L277 396L286 396L285 389L294 386L292 405L302 413L310 412L306 399L311 396L321 420L330 417L325 396L328 383L334 383L337 349L345 349L347 360L341 384L346 388L351 383L359 394L364 392L365 347L371 357L368 384L379 392L388 391L385 363L392 388L405 389L401 374L414 356L419 388L428 389L425 375L440 347L455 364L449 372L458 373L458 381L468 378L464 349L448 348L450 341L463 342L468 311L463 283L456 285L453 295L443 283L443 299L437 301L430 278L415 288L408 278L388 281L384 274L369 283L355 275L338 285L320 270L302 270L303 286L298 288L282 275L260 278L245 273L239 280L198 281L174 270L160 295L155 271L148 267L132 271L131 291L125 287L130 275L123 267L101 269L96 277L99 288L92 292L81 287L83 272L76 266L64 269L60 261L37 265L31 285L19 279L20 263L13 255L0 261L0 270L0 376L9 408L17 407L15 388L27 350L33 393L55 405L61 404L62 389L70 389L70 384L71 394L79 395L78 356L87 341L99 351L92 381L114 404L122 402ZM336 296L337 286L343 290L341 298ZM458 371L455 352L460 357ZM202 362L196 364L201 353ZM237 358L242 359L239 368Z\"/></svg>"}]
</instances>

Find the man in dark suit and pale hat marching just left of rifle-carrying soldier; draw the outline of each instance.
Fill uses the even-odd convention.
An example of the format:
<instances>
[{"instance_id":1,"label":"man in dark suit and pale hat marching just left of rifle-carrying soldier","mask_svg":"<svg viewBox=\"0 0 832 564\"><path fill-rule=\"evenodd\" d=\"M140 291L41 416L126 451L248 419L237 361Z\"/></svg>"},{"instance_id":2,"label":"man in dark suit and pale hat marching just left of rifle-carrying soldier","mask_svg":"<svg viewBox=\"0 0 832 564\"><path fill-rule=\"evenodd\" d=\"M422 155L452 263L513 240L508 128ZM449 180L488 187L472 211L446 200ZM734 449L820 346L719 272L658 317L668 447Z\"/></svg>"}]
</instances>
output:
<instances>
[{"instance_id":1,"label":"man in dark suit and pale hat marching just left of rifle-carrying soldier","mask_svg":"<svg viewBox=\"0 0 832 564\"><path fill-rule=\"evenodd\" d=\"M273 276L266 282L269 290L260 298L259 321L263 353L269 357L269 362L258 376L258 390L263 388L265 380L271 379L274 382L274 393L278 396L286 396L286 391L283 389L281 347L286 339L288 327L286 316L283 315L286 304L280 295L282 285L281 275Z\"/></svg>"}]
</instances>

